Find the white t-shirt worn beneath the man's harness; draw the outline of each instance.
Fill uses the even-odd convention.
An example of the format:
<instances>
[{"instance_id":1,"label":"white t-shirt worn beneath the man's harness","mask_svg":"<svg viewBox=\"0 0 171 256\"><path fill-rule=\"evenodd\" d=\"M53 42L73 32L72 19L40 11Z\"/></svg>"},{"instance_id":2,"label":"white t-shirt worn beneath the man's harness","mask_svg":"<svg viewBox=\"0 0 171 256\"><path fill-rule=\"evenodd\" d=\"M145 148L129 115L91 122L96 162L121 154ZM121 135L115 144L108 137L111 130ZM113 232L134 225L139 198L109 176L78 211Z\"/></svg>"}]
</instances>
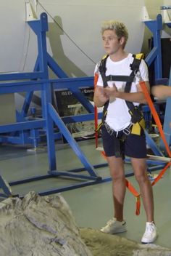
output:
<instances>
[{"instance_id":1,"label":"white t-shirt worn beneath the man's harness","mask_svg":"<svg viewBox=\"0 0 171 256\"><path fill-rule=\"evenodd\" d=\"M107 58L106 62L106 76L112 75L112 76L130 76L130 73L132 70L130 69L130 64L133 63L133 55L128 54L128 57L126 57L123 60L114 62L110 59L110 57ZM99 63L96 65L95 72L99 71ZM148 68L144 60L141 60L141 64L139 67L139 71L136 74L134 81L131 85L130 92L137 92L136 84L138 84L139 81L149 81L149 73ZM108 81L107 84L109 87L112 87L112 84L115 84L117 87L117 90L120 92L124 92L125 90L125 84L124 81ZM97 85L99 87L103 87L103 80L101 78L101 75L99 73L99 79L97 81ZM134 105L139 105L139 103L134 103ZM109 105L107 108L107 117L106 122L107 124L114 129L114 131L120 131L122 129L125 129L130 124L130 113L128 112L128 106L125 103L125 100L122 100L120 98L111 98L109 100Z\"/></svg>"}]
</instances>

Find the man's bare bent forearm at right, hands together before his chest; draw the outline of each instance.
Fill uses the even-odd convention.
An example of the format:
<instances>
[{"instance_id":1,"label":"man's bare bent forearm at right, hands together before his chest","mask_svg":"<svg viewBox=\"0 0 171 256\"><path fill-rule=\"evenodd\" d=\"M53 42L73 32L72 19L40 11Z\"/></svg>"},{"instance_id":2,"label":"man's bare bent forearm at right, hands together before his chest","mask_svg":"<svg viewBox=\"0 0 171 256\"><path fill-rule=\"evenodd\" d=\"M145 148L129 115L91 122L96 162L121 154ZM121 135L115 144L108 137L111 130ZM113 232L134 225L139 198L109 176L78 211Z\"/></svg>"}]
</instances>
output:
<instances>
[{"instance_id":1,"label":"man's bare bent forearm at right, hands together before his chest","mask_svg":"<svg viewBox=\"0 0 171 256\"><path fill-rule=\"evenodd\" d=\"M142 92L140 84L137 84L136 87L137 87L138 92L119 92L119 91L117 91L117 87L115 87L115 85L113 85L113 87L104 88L104 92L106 92L106 94L109 97L117 97L122 100L128 100L128 101L134 102L134 103L146 104L146 98ZM147 87L148 91L150 91L149 81L146 81L146 87Z\"/></svg>"}]
</instances>

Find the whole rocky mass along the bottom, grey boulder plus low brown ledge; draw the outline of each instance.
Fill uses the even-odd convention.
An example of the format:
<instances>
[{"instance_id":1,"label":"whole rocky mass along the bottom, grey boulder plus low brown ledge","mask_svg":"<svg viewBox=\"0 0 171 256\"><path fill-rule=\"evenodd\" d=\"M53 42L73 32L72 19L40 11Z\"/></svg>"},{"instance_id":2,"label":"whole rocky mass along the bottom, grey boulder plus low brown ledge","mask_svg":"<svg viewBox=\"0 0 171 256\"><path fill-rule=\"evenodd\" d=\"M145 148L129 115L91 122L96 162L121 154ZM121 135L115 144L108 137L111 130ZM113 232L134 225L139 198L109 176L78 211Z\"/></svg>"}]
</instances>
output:
<instances>
[{"instance_id":1,"label":"whole rocky mass along the bottom, grey boulder plus low brown ledge","mask_svg":"<svg viewBox=\"0 0 171 256\"><path fill-rule=\"evenodd\" d=\"M0 231L0 256L171 256L170 249L91 228L79 231L60 194L30 192L22 200L2 201Z\"/></svg>"}]
</instances>

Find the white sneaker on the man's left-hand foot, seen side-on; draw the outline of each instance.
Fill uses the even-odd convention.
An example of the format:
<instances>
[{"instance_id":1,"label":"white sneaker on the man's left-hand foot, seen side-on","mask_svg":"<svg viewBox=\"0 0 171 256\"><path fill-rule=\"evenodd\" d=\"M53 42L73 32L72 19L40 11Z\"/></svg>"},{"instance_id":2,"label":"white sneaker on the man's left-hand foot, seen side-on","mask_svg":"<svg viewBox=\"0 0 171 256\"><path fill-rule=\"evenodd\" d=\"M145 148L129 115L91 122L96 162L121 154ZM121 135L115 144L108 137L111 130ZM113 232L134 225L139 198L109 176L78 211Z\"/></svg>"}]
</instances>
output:
<instances>
[{"instance_id":1,"label":"white sneaker on the man's left-hand foot, seen side-on","mask_svg":"<svg viewBox=\"0 0 171 256\"><path fill-rule=\"evenodd\" d=\"M127 231L126 222L123 221L117 221L115 217L112 218L112 220L109 220L107 222L107 225L103 228L101 228L101 231L104 233L122 233Z\"/></svg>"}]
</instances>

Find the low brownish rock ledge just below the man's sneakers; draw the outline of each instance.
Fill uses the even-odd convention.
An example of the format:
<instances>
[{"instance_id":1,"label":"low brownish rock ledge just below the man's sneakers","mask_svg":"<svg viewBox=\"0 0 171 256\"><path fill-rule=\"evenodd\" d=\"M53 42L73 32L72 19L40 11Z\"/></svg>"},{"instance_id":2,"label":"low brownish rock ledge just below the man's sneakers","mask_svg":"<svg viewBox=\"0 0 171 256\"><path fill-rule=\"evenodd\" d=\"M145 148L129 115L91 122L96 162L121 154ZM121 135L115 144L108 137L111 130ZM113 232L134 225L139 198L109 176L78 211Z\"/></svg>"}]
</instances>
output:
<instances>
[{"instance_id":1,"label":"low brownish rock ledge just below the man's sneakers","mask_svg":"<svg viewBox=\"0 0 171 256\"><path fill-rule=\"evenodd\" d=\"M171 256L171 249L155 244L138 244L91 228L81 228L80 233L93 256Z\"/></svg>"}]
</instances>

